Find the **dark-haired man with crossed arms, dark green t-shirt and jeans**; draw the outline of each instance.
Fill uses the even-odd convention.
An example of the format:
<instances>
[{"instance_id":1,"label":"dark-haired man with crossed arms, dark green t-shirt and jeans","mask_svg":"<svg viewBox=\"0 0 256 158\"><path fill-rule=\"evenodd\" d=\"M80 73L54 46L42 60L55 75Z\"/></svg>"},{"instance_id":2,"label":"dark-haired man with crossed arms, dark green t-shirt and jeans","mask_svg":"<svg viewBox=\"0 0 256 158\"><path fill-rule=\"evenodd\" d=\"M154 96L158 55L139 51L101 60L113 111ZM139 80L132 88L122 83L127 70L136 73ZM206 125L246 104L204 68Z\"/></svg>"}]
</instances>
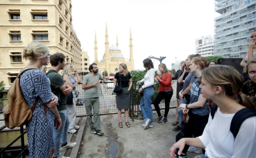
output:
<instances>
[{"instance_id":1,"label":"dark-haired man with crossed arms, dark green t-shirt and jeans","mask_svg":"<svg viewBox=\"0 0 256 158\"><path fill-rule=\"evenodd\" d=\"M53 155L54 158L68 158L62 156L60 151L66 150L68 148L73 148L74 146L77 145L76 142L71 143L67 141L69 116L66 111L66 100L67 96L69 96L73 88L65 84L65 81L63 80L62 76L58 73L59 70L63 70L63 68L65 67L65 58L66 56L62 53L55 53L51 55L51 69L47 73L51 82L51 92L53 92L59 98L57 108L62 121L61 128L58 130L54 130L53 132L55 143L55 152Z\"/></svg>"}]
</instances>

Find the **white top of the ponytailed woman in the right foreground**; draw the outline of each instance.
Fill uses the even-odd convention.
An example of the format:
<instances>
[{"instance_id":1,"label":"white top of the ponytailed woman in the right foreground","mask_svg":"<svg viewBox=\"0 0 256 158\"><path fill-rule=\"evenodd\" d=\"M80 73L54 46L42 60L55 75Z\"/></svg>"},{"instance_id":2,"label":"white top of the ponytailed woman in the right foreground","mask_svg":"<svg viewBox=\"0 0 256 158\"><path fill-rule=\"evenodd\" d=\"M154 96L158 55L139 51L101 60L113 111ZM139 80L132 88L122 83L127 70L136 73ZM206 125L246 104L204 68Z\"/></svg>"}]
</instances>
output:
<instances>
[{"instance_id":1,"label":"white top of the ponytailed woman in the right foreground","mask_svg":"<svg viewBox=\"0 0 256 158\"><path fill-rule=\"evenodd\" d=\"M206 147L209 158L255 158L256 157L256 116L246 119L234 139L230 131L235 114L223 114L219 108L214 120L209 115L203 134L198 138Z\"/></svg>"}]
</instances>

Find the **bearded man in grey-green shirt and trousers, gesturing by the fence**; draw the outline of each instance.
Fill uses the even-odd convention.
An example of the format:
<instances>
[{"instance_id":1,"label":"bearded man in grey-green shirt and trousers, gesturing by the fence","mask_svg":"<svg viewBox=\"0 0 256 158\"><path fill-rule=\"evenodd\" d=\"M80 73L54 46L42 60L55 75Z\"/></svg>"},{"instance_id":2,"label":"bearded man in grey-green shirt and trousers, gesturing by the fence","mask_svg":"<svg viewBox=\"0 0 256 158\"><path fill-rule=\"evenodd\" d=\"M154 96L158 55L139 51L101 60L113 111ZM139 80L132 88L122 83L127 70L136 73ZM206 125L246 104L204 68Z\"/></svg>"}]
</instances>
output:
<instances>
[{"instance_id":1,"label":"bearded man in grey-green shirt and trousers, gesturing by the fence","mask_svg":"<svg viewBox=\"0 0 256 158\"><path fill-rule=\"evenodd\" d=\"M89 66L89 71L87 75L83 78L82 89L85 90L85 109L87 120L90 124L91 131L95 134L103 135L100 127L100 115L99 115L99 80L104 82L101 74L98 73L98 68L96 63L92 63ZM92 112L93 109L93 119Z\"/></svg>"}]
</instances>

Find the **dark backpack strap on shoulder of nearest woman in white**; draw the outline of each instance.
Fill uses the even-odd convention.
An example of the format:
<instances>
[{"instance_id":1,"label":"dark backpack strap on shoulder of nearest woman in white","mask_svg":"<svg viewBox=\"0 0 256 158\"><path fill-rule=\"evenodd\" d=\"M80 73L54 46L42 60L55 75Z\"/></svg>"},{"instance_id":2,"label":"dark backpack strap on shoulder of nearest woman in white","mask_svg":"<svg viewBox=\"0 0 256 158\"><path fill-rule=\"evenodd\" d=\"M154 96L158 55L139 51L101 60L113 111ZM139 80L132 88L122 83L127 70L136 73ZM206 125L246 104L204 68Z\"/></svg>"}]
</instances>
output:
<instances>
[{"instance_id":1,"label":"dark backpack strap on shoulder of nearest woman in white","mask_svg":"<svg viewBox=\"0 0 256 158\"><path fill-rule=\"evenodd\" d=\"M243 108L239 110L237 113L235 113L230 125L230 131L232 132L234 138L237 137L240 126L242 125L243 121L252 116L256 116L256 109Z\"/></svg>"}]
</instances>

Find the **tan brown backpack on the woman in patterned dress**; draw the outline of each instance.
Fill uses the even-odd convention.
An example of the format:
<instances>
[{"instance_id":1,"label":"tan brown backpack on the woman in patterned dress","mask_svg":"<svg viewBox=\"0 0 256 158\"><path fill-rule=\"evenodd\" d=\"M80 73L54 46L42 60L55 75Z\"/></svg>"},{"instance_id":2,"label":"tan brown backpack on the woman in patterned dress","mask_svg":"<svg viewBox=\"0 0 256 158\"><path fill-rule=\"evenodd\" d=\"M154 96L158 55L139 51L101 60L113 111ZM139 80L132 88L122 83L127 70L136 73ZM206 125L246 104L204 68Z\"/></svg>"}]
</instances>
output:
<instances>
[{"instance_id":1,"label":"tan brown backpack on the woman in patterned dress","mask_svg":"<svg viewBox=\"0 0 256 158\"><path fill-rule=\"evenodd\" d=\"M34 105L30 108L25 102L21 87L19 85L19 77L23 72L30 69L38 69L34 65L26 66L21 72L19 72L17 78L14 80L11 87L8 89L8 104L3 107L3 114L5 119L5 125L9 129L20 127L24 124L29 123L32 119L32 114L35 106L40 99L39 96L36 98ZM8 73L10 74L10 73ZM11 74L10 74L11 75ZM45 116L46 116L46 104L43 105Z\"/></svg>"}]
</instances>

